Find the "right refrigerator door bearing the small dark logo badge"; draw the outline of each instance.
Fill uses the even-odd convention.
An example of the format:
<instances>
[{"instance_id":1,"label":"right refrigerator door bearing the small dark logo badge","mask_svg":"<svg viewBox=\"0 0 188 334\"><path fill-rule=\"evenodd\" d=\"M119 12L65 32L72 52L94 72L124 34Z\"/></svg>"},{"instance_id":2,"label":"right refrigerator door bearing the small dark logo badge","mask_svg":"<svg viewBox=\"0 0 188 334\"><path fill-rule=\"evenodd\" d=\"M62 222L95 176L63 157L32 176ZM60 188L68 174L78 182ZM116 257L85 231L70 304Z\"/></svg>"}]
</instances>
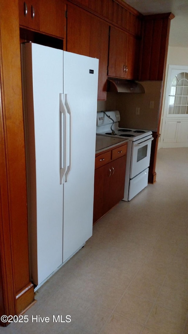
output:
<instances>
[{"instance_id":1,"label":"right refrigerator door bearing the small dark logo badge","mask_svg":"<svg viewBox=\"0 0 188 334\"><path fill-rule=\"evenodd\" d=\"M70 154L64 183L63 262L92 235L98 59L64 51Z\"/></svg>"}]
</instances>

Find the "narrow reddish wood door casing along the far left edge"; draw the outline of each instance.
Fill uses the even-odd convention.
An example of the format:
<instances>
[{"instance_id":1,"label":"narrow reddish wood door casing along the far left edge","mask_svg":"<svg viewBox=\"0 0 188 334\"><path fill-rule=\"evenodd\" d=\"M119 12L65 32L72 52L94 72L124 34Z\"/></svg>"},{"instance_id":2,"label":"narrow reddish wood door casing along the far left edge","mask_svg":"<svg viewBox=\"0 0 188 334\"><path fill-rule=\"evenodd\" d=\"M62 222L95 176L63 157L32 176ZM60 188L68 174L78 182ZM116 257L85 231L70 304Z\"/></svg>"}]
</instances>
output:
<instances>
[{"instance_id":1,"label":"narrow reddish wood door casing along the far left edge","mask_svg":"<svg viewBox=\"0 0 188 334\"><path fill-rule=\"evenodd\" d=\"M1 49L1 40L0 40ZM2 61L0 55L0 70ZM15 284L13 271L12 231L10 225L9 190L7 175L6 135L3 119L3 86L0 77L0 315L16 314ZM7 323L1 323L7 326Z\"/></svg>"}]
</instances>

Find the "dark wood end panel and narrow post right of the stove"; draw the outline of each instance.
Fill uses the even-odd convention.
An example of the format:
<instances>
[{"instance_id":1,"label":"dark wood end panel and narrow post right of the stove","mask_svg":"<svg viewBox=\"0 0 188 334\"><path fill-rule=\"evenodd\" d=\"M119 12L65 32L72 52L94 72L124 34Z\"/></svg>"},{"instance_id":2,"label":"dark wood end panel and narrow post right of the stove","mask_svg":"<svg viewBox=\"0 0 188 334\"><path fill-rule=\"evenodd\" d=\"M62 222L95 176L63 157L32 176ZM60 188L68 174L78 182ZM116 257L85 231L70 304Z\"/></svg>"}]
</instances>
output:
<instances>
[{"instance_id":1,"label":"dark wood end panel and narrow post right of the stove","mask_svg":"<svg viewBox=\"0 0 188 334\"><path fill-rule=\"evenodd\" d=\"M140 80L163 80L160 112L158 118L157 131L153 132L151 158L148 182L156 182L156 161L158 141L160 137L159 129L161 122L162 102L164 94L164 81L167 63L168 41L170 32L170 22L174 14L155 14L143 16L143 39L142 57L140 64Z\"/></svg>"}]
</instances>

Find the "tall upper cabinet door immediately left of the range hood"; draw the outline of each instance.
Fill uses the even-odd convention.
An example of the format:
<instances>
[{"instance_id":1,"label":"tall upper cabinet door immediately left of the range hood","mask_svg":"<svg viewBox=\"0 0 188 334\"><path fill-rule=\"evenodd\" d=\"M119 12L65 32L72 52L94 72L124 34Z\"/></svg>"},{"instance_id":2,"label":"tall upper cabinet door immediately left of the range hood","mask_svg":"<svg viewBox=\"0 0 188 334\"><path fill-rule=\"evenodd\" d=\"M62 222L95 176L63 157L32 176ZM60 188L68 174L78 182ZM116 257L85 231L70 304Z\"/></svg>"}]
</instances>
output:
<instances>
[{"instance_id":1,"label":"tall upper cabinet door immediately left of the range hood","mask_svg":"<svg viewBox=\"0 0 188 334\"><path fill-rule=\"evenodd\" d=\"M109 25L91 16L90 57L99 59L98 100L106 100Z\"/></svg>"}]
</instances>

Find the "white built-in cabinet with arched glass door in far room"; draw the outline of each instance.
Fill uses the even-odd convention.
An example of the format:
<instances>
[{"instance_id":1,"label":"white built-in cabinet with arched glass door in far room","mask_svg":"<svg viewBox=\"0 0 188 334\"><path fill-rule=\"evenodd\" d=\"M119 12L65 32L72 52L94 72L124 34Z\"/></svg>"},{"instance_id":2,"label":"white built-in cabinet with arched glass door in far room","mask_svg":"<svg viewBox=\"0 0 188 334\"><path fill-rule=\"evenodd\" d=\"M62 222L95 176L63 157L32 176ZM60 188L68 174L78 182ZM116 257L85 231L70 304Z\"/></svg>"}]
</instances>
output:
<instances>
[{"instance_id":1,"label":"white built-in cabinet with arched glass door in far room","mask_svg":"<svg viewBox=\"0 0 188 334\"><path fill-rule=\"evenodd\" d=\"M188 66L169 65L161 143L188 146Z\"/></svg>"}]
</instances>

